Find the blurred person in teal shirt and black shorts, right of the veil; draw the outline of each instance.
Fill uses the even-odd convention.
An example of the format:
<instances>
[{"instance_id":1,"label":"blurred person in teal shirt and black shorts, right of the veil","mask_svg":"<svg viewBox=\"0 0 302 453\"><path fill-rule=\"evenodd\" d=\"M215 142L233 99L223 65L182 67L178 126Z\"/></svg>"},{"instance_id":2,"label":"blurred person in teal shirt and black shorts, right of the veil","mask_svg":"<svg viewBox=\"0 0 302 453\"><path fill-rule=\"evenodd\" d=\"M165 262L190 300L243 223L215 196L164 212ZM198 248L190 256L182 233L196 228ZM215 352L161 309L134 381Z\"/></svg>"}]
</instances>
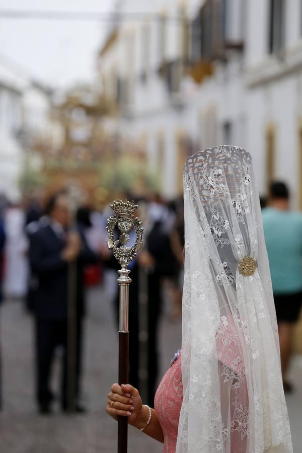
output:
<instances>
[{"instance_id":1,"label":"blurred person in teal shirt and black shorts, right of the veil","mask_svg":"<svg viewBox=\"0 0 302 453\"><path fill-rule=\"evenodd\" d=\"M270 186L268 207L262 210L263 228L273 285L280 339L284 390L290 392L287 370L292 334L302 305L302 214L289 207L283 182Z\"/></svg>"}]
</instances>

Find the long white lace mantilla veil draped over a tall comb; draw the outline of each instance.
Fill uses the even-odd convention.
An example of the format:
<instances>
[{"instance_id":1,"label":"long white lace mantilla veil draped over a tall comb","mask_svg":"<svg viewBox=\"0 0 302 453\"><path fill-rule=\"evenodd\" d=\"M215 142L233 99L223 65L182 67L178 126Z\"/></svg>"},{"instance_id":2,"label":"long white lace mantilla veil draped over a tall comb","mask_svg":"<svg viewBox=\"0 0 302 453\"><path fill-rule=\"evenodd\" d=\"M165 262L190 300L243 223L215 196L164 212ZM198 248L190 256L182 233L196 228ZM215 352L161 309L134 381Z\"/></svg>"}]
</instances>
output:
<instances>
[{"instance_id":1,"label":"long white lace mantilla veil draped over a tall comb","mask_svg":"<svg viewBox=\"0 0 302 453\"><path fill-rule=\"evenodd\" d=\"M205 149L187 159L183 179L184 398L176 453L291 453L251 155L237 146Z\"/></svg>"}]
</instances>

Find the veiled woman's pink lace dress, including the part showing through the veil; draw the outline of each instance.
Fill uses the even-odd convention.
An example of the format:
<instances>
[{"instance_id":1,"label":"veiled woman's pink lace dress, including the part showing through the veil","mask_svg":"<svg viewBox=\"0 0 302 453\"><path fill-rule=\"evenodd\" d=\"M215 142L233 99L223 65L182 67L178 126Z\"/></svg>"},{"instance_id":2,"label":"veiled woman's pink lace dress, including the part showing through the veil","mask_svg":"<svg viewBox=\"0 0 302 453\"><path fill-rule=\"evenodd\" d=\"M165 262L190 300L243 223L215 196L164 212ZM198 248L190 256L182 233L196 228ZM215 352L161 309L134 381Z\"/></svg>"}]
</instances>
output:
<instances>
[{"instance_id":1,"label":"veiled woman's pink lace dress, including the part showing through the veil","mask_svg":"<svg viewBox=\"0 0 302 453\"><path fill-rule=\"evenodd\" d=\"M216 351L217 370L221 375L220 398L227 409L221 412L221 419L224 425L231 424L230 437L223 451L245 453L249 432L248 389L242 350L231 317L223 317L217 329ZM175 453L182 401L180 353L164 375L155 395L155 411L164 433L163 453Z\"/></svg>"}]
</instances>

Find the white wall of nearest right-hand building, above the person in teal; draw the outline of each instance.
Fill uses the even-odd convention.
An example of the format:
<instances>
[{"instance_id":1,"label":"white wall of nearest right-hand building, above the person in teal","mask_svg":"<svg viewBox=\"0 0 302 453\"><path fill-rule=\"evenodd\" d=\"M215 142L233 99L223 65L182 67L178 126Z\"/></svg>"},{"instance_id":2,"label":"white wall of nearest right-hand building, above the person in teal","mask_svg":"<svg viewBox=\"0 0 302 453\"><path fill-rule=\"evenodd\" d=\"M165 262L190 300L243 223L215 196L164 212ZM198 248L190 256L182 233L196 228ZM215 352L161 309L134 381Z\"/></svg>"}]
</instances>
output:
<instances>
[{"instance_id":1,"label":"white wall of nearest right-hand building, above the person in teal","mask_svg":"<svg viewBox=\"0 0 302 453\"><path fill-rule=\"evenodd\" d=\"M247 54L245 75L247 92L247 144L254 157L259 189L266 191L266 128L275 127L275 179L286 181L291 189L292 204L298 206L300 190L298 127L302 108L301 2L285 2L285 48L282 58L268 55L268 0L248 2ZM256 27L258 24L258 27ZM252 78L249 79L249 74Z\"/></svg>"}]
</instances>

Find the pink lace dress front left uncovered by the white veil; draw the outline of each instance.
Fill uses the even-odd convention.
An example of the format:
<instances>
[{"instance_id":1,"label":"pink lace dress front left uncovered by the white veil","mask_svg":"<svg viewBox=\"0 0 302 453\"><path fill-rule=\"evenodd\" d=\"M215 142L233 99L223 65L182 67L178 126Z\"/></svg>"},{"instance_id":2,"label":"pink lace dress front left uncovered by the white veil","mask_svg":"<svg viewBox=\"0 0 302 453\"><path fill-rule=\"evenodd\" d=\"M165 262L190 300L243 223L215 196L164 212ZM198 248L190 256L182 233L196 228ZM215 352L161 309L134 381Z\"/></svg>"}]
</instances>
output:
<instances>
[{"instance_id":1,"label":"pink lace dress front left uncovered by the white veil","mask_svg":"<svg viewBox=\"0 0 302 453\"><path fill-rule=\"evenodd\" d=\"M179 355L164 375L154 401L165 438L164 453L175 453L182 400L181 355Z\"/></svg>"}]
</instances>

